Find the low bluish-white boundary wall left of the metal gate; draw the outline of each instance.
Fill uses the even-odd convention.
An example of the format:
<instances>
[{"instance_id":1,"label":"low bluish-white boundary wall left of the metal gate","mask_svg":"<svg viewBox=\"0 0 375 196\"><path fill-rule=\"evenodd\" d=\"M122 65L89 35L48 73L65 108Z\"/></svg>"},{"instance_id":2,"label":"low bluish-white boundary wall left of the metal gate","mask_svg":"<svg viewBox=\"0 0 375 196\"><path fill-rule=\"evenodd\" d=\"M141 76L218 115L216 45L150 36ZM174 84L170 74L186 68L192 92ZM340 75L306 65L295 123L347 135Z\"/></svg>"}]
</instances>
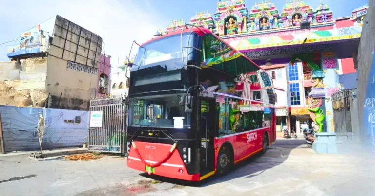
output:
<instances>
[{"instance_id":1,"label":"low bluish-white boundary wall left of the metal gate","mask_svg":"<svg viewBox=\"0 0 375 196\"><path fill-rule=\"evenodd\" d=\"M0 106L5 152L39 150L39 115L45 118L42 149L82 146L88 137L88 111ZM81 122L66 123L79 116Z\"/></svg>"}]
</instances>

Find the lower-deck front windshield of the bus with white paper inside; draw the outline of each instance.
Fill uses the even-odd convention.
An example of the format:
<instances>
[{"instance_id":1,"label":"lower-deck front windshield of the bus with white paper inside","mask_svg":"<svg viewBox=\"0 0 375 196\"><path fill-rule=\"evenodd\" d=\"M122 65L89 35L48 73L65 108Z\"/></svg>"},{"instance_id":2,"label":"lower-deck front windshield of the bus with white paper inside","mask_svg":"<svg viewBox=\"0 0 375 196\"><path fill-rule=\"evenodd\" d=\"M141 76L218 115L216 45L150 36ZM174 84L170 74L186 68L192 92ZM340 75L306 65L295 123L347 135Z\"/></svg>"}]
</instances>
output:
<instances>
[{"instance_id":1,"label":"lower-deck front windshield of the bus with white paper inside","mask_svg":"<svg viewBox=\"0 0 375 196\"><path fill-rule=\"evenodd\" d=\"M190 113L184 111L185 94L154 95L129 99L129 125L189 128Z\"/></svg>"}]
</instances>

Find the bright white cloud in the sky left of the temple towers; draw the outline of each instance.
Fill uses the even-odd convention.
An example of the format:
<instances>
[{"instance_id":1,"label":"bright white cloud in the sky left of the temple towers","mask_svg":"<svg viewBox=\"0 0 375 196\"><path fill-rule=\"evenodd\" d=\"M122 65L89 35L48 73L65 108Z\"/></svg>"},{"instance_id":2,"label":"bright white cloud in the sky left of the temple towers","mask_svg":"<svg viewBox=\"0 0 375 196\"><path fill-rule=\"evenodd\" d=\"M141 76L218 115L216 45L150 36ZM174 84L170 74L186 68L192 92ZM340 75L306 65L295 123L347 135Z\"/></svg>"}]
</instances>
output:
<instances>
[{"instance_id":1,"label":"bright white cloud in the sky left of the temple towers","mask_svg":"<svg viewBox=\"0 0 375 196\"><path fill-rule=\"evenodd\" d=\"M14 3L6 2L1 5L0 18L11 18L13 25L22 25L22 31L57 14L98 34L103 38L105 54L112 56L113 66L117 65L119 57L122 64L133 40L143 43L152 38L157 29L168 24L148 0L39 0L38 5L34 1L21 0L18 4L26 8L21 14L14 10ZM12 37L21 35L22 31Z\"/></svg>"}]
</instances>

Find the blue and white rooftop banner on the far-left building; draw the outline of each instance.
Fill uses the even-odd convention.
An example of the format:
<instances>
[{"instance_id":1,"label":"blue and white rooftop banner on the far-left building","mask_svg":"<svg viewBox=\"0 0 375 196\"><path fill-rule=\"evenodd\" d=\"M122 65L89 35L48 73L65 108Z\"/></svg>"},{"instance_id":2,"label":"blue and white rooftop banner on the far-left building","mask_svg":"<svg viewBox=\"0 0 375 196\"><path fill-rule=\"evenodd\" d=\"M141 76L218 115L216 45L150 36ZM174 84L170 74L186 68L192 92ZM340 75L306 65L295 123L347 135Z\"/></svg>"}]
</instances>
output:
<instances>
[{"instance_id":1,"label":"blue and white rooftop banner on the far-left building","mask_svg":"<svg viewBox=\"0 0 375 196\"><path fill-rule=\"evenodd\" d=\"M27 32L23 32L20 39L17 40L17 44L8 48L6 55L11 58L22 54L39 53L42 47L41 39L41 25L37 25Z\"/></svg>"}]
</instances>

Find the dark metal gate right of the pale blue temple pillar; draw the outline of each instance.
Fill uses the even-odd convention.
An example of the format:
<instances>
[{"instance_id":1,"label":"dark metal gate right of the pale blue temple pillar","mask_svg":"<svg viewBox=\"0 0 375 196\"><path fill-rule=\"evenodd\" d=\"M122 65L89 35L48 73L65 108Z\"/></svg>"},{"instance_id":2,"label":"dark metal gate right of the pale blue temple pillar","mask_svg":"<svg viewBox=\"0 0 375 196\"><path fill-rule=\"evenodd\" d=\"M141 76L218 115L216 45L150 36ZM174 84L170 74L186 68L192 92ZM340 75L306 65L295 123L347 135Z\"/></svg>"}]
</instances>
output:
<instances>
[{"instance_id":1,"label":"dark metal gate right of the pale blue temple pillar","mask_svg":"<svg viewBox=\"0 0 375 196\"><path fill-rule=\"evenodd\" d=\"M338 136L347 136L348 133L352 133L350 105L352 93L355 90L356 89L341 90L331 95L334 118L334 132Z\"/></svg>"}]
</instances>

